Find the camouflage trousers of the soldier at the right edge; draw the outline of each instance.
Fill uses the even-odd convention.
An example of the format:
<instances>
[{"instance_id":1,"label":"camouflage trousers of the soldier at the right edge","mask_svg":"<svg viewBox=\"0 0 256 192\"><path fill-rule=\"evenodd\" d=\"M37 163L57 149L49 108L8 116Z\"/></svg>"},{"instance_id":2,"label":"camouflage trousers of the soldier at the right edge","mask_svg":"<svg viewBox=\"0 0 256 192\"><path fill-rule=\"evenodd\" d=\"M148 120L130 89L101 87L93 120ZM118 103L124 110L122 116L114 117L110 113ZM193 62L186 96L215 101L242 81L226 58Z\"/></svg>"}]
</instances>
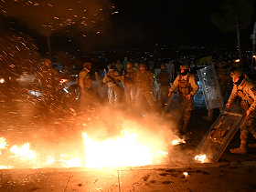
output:
<instances>
[{"instance_id":1,"label":"camouflage trousers of the soldier at the right edge","mask_svg":"<svg viewBox=\"0 0 256 192\"><path fill-rule=\"evenodd\" d=\"M249 132L256 138L255 112L245 118L240 125L240 140L242 142L247 142Z\"/></svg>"}]
</instances>

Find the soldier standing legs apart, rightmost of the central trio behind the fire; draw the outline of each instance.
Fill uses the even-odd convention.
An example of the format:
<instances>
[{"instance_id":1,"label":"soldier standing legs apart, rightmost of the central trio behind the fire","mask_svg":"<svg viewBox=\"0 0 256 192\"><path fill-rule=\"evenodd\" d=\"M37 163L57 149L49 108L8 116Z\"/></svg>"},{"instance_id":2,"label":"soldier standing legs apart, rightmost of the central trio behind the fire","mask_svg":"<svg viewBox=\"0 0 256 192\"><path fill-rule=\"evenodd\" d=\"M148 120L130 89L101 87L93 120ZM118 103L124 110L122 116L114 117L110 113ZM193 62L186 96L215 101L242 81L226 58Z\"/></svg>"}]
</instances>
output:
<instances>
[{"instance_id":1,"label":"soldier standing legs apart, rightmost of the central trio behind the fire","mask_svg":"<svg viewBox=\"0 0 256 192\"><path fill-rule=\"evenodd\" d=\"M135 73L135 83L137 93L135 97L135 109L140 108L141 102L145 97L152 110L155 110L155 100L152 96L152 79L153 75L146 70L145 64L140 64L140 69Z\"/></svg>"}]
</instances>

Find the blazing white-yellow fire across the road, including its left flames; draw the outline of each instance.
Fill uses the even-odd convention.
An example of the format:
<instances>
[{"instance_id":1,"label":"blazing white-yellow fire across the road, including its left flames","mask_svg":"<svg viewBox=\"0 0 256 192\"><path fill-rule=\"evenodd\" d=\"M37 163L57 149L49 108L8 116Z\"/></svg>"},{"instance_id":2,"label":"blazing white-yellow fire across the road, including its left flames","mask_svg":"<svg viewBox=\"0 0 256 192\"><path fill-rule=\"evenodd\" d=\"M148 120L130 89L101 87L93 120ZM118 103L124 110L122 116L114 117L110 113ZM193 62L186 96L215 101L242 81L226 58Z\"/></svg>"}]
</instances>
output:
<instances>
[{"instance_id":1,"label":"blazing white-yellow fire across the road, including its left flames","mask_svg":"<svg viewBox=\"0 0 256 192\"><path fill-rule=\"evenodd\" d=\"M83 157L68 157L60 155L59 157L40 157L37 151L30 149L30 144L25 143L21 147L10 147L10 159L18 165L28 163L33 168L51 167L55 164L61 164L61 167L125 167L125 166L145 166L151 165L154 161L161 161L168 154L163 150L158 149L155 151L154 143L146 146L142 145L139 141L138 135L130 134L128 131L122 131L121 136L109 138L104 141L94 141L85 132L82 133L83 144L81 147L84 149ZM0 147L7 148L5 138L0 139ZM160 152L161 153L160 153ZM2 162L0 162L2 164ZM0 168L13 168L16 165L0 165Z\"/></svg>"}]
</instances>

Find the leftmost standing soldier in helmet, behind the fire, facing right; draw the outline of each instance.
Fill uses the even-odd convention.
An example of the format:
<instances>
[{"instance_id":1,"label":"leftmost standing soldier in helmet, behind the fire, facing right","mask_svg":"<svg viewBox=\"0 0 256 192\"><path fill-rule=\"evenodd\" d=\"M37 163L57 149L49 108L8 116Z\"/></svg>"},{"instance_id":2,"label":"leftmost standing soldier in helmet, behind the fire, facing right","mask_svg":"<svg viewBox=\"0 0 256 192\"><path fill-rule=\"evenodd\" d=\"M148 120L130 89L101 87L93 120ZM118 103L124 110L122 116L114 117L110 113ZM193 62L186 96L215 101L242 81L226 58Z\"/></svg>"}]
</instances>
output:
<instances>
[{"instance_id":1,"label":"leftmost standing soldier in helmet, behind the fire, facing right","mask_svg":"<svg viewBox=\"0 0 256 192\"><path fill-rule=\"evenodd\" d=\"M78 77L78 84L80 85L80 106L88 106L90 100L89 88L92 84L91 79L91 63L85 62L83 69L80 71Z\"/></svg>"}]
</instances>

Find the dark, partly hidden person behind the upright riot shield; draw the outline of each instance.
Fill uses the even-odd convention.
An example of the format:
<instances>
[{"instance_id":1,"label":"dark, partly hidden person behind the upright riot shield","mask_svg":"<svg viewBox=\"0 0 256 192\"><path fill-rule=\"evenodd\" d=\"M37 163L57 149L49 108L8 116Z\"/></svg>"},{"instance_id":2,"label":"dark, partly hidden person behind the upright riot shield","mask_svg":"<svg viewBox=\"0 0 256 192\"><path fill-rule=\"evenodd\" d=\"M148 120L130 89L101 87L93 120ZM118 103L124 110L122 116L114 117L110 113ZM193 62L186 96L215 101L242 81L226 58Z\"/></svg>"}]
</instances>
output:
<instances>
[{"instance_id":1,"label":"dark, partly hidden person behind the upright riot shield","mask_svg":"<svg viewBox=\"0 0 256 192\"><path fill-rule=\"evenodd\" d=\"M230 87L229 76L227 72L223 69L223 65L220 62L217 62L215 64L215 73L219 83L220 94L223 98L223 102L225 102L225 98L228 95L228 91ZM223 112L223 109L224 109L224 106L219 108L220 113ZM214 112L214 108L208 109L208 116L203 116L203 119L212 121L213 112Z\"/></svg>"}]
</instances>

